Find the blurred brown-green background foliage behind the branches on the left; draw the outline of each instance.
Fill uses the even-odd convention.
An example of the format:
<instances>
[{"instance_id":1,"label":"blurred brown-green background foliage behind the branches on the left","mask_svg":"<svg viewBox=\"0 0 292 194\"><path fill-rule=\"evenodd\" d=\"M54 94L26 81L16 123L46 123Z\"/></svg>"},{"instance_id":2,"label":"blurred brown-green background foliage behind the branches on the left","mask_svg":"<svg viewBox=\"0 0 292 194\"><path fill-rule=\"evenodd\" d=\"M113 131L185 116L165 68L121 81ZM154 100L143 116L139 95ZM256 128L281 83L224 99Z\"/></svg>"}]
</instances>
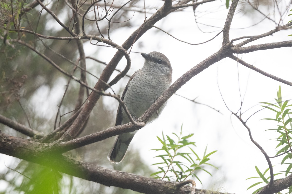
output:
<instances>
[{"instance_id":1,"label":"blurred brown-green background foliage behind the branches on the left","mask_svg":"<svg viewBox=\"0 0 292 194\"><path fill-rule=\"evenodd\" d=\"M13 29L21 28L34 31L47 36L70 36L63 28L58 28L56 21L40 6L30 9L28 12L22 12L27 8L30 1L5 1L0 0L0 36L6 40L20 39L45 54L53 60L58 66L71 73L74 69L72 64L79 57L78 47L75 40L55 40L38 38L29 33L13 31ZM137 1L132 1L134 5ZM67 6L65 1L44 1L48 3L53 12L62 19L70 29L73 27L73 13ZM80 2L79 2L80 3ZM79 11L84 13L88 3L81 2ZM90 3L90 2L89 2ZM11 14L13 13L18 14ZM91 14L91 15L90 15ZM88 16L92 16L93 12ZM121 10L111 26L111 30L120 27L130 26L129 22L124 21L129 14L126 10ZM57 24L57 25L56 25ZM98 31L92 27L95 21L86 21L85 27L87 33L98 35ZM100 21L100 30L107 33L108 21ZM84 43L88 40L84 40ZM96 47L96 53L98 47ZM86 49L86 48L84 48ZM58 53L58 54L56 54ZM62 56L62 57L61 57ZM98 54L95 54L98 57ZM87 68L88 71L95 72L100 75L105 66L94 62L93 66ZM76 70L74 75L80 77L80 70ZM96 79L88 76L88 83L94 85ZM66 121L71 114L66 114L74 110L78 98L80 85L77 82L69 83L68 91L60 105L60 101L65 92L69 78L61 74L56 68L48 64L42 57L32 52L25 46L17 43L12 45L6 44L5 40L0 39L0 114L14 119L17 122L31 127L34 130L48 134L54 129L56 114L60 108L57 125ZM86 96L84 97L84 100ZM101 131L108 126L114 125L116 104L110 106L105 104L106 99L101 98L95 105L86 129L80 136L88 135ZM60 121L61 120L61 121ZM26 137L21 133L11 130L7 126L1 125L1 131L18 137ZM107 160L108 151L114 142L114 137L81 147L74 151L70 151L70 155L80 158L83 161L97 165L105 165L116 170L123 170L135 174L149 176L151 174L149 167L141 161L136 150L132 150L127 154L128 157L123 161L124 165L112 165ZM1 157L1 156L0 156ZM10 168L11 167L11 168ZM107 187L83 179L61 174L48 167L11 159L7 169L0 172L0 182L4 181L8 186L3 193L137 193L121 188ZM2 183L4 183L2 182Z\"/></svg>"}]
</instances>

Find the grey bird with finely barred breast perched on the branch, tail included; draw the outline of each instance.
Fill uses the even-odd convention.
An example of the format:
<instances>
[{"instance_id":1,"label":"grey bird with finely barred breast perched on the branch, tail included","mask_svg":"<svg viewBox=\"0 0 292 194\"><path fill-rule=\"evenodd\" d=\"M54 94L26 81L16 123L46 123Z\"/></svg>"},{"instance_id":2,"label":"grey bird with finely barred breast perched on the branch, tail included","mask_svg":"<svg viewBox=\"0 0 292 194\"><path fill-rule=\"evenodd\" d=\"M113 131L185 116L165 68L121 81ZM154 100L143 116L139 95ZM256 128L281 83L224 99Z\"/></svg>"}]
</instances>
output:
<instances>
[{"instance_id":1,"label":"grey bird with finely barred breast perched on the branch, tail included","mask_svg":"<svg viewBox=\"0 0 292 194\"><path fill-rule=\"evenodd\" d=\"M145 63L130 78L121 99L128 107L132 117L139 118L171 84L172 68L168 58L160 52L142 53ZM156 119L165 107L160 107L148 121ZM118 107L116 126L130 122L121 105ZM107 158L112 163L121 162L136 131L120 134Z\"/></svg>"}]
</instances>

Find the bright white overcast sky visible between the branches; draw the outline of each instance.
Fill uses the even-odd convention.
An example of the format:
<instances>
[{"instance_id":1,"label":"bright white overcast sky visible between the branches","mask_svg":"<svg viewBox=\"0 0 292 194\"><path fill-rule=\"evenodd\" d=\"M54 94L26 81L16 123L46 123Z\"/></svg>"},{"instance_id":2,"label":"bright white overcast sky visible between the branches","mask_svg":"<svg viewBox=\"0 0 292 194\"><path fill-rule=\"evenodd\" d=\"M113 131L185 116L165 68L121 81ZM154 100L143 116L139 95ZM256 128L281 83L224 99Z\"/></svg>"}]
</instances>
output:
<instances>
[{"instance_id":1,"label":"bright white overcast sky visible between the branches","mask_svg":"<svg viewBox=\"0 0 292 194\"><path fill-rule=\"evenodd\" d=\"M288 0L281 1L283 8L284 5L287 5L289 2ZM141 1L141 3L143 2ZM159 8L162 2L146 1L146 6L152 5L155 7L156 4L157 8ZM242 4L239 4L239 7L244 8ZM257 12L244 13L244 11L239 10L239 7L232 21L230 31L231 39L241 36L259 35L276 27L273 22L267 19L260 22L264 18L263 15ZM260 6L259 8L264 13L268 13L268 8L270 8L270 11L273 10L272 6ZM291 6L289 10L290 9L292 9ZM197 8L196 15L198 16L198 22L219 27L215 28L198 24L203 31L212 33L202 33L198 29L194 20L192 8L186 8L184 11L171 13L163 20L157 22L155 26L171 33L181 40L190 43L201 43L213 38L213 36L222 29L227 12L228 10L225 7L225 3L221 1L206 3ZM147 15L147 17L150 17L150 15ZM269 17L277 22L279 21L279 14L277 11L274 13L272 12ZM282 24L286 24L288 21L292 20L291 16L288 17L288 14L284 15L282 19ZM132 20L135 21L135 26L112 31L111 38L115 43L121 45L124 40L143 23L144 14L136 12ZM250 27L258 22L260 22L260 24ZM292 37L288 37L288 34L292 34L291 30L277 32L273 36L261 38L248 45L291 40ZM241 40L235 43L239 42L241 42ZM171 61L174 82L187 70L197 65L214 52L217 52L221 44L222 34L214 40L202 45L188 45L173 39L158 29L152 28L138 40L133 46L132 51L145 53L158 51L165 54ZM109 62L116 52L116 50L112 48L102 47L100 49L88 42L85 43L85 48L87 56L93 56L106 62ZM96 52L97 50L98 52ZM267 73L271 73L272 75L292 82L291 54L292 48L286 47L239 54L238 57ZM133 74L133 72L142 68L144 59L138 53L131 53L130 56L132 66L128 74ZM124 66L125 60L123 59L117 68L123 69ZM88 69L92 70L91 73L95 73L94 68L96 68L96 64L89 62ZM113 77L115 75L113 75ZM116 92L119 91L121 86L124 87L126 85L128 78L125 77L122 80L123 82L119 82L113 87ZM54 99L54 94L60 93L62 97L63 82L66 83L65 80L59 80L58 86L56 86L51 93L46 93L45 88L40 90L39 94L34 98L34 104L44 105L44 110L41 111L47 111L47 108L52 105L52 102L58 104L59 99ZM210 157L211 160L209 163L217 166L219 170L215 170L212 167L207 168L212 172L213 177L205 172L198 174L203 185L195 179L197 188L213 189L228 193L252 193L259 186L251 188L248 191L246 191L246 189L252 184L261 181L261 179L245 179L257 176L255 170L256 165L260 168L261 172L267 169L267 161L258 148L251 143L246 128L244 128L237 118L230 116L230 112L227 110L221 98L219 89L227 106L234 112L237 112L241 105L239 94L241 94L241 97L244 96L242 110L248 110L242 116L245 120L251 114L261 109L259 102L266 101L274 103L273 100L277 97L276 91L280 84L283 100L292 99L291 87L265 77L241 64L237 64L237 62L232 59L223 59L199 73L199 75L192 78L192 80L177 91L177 94L185 96L186 98L197 98L197 102L214 107L216 110L220 110L222 114L207 106L195 104L174 95L168 100L159 119L139 130L131 142L129 151L131 151L131 149L139 149L139 153L146 163L157 163L159 161L157 158L154 158L154 156L157 156L159 153L150 151L150 149L159 148L161 146L156 136L161 137L162 131L165 135L170 136L173 132L179 133L180 126L183 124L185 135L194 133L191 140L196 142L197 147L195 151L199 156L203 155L207 145L208 152L218 150ZM117 109L118 103L116 100L109 97L103 99L109 109ZM55 110L52 110L52 112L52 115L55 115ZM262 110L252 116L247 122L254 140L265 149L269 156L274 156L276 153L275 147L277 145L277 142L271 139L279 135L274 131L265 130L277 127L277 123L275 121L260 119L274 117L275 114L272 111ZM172 137L174 138L174 136ZM9 158L9 156L2 155L0 157L1 163L3 164L4 161L6 163L7 161L9 162ZM286 167L281 167L280 162L281 158L272 159L272 164L275 165L274 173L277 173L277 170L286 170ZM288 160L286 162L288 162ZM122 163L119 165L122 165ZM153 166L152 169L156 170L156 167ZM282 175L278 175L278 178L281 176Z\"/></svg>"}]
</instances>

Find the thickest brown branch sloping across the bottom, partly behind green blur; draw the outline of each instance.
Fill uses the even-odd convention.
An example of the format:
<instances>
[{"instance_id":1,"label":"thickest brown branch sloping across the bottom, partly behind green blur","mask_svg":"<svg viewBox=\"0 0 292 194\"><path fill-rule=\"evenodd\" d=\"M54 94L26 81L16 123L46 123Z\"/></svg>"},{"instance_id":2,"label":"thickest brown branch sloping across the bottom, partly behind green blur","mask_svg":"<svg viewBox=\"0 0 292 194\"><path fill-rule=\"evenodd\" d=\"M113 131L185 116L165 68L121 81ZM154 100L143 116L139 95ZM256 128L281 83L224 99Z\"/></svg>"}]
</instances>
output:
<instances>
[{"instance_id":1,"label":"thickest brown branch sloping across the bottom, partly behind green blur","mask_svg":"<svg viewBox=\"0 0 292 194\"><path fill-rule=\"evenodd\" d=\"M148 194L190 194L190 186L182 186L178 182L161 181L128 172L107 169L91 163L75 160L62 155L48 155L41 153L44 144L13 137L0 133L0 153L24 159L51 167L60 172L97 182L105 186L116 186ZM206 194L210 191L196 189L197 192ZM223 194L218 193L216 194Z\"/></svg>"}]
</instances>

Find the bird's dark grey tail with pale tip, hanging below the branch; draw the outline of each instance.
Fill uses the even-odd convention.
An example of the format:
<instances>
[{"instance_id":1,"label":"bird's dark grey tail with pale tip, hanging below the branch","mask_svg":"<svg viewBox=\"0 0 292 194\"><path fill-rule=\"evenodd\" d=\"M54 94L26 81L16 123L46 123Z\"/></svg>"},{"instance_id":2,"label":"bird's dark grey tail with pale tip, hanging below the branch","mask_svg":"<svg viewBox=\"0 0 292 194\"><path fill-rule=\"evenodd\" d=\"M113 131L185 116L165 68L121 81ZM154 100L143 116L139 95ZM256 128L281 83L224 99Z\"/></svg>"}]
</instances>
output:
<instances>
[{"instance_id":1,"label":"bird's dark grey tail with pale tip, hanging below the branch","mask_svg":"<svg viewBox=\"0 0 292 194\"><path fill-rule=\"evenodd\" d=\"M132 141L135 133L123 133L119 135L114 142L114 147L109 151L107 158L112 163L120 163L127 152L130 142Z\"/></svg>"}]
</instances>

